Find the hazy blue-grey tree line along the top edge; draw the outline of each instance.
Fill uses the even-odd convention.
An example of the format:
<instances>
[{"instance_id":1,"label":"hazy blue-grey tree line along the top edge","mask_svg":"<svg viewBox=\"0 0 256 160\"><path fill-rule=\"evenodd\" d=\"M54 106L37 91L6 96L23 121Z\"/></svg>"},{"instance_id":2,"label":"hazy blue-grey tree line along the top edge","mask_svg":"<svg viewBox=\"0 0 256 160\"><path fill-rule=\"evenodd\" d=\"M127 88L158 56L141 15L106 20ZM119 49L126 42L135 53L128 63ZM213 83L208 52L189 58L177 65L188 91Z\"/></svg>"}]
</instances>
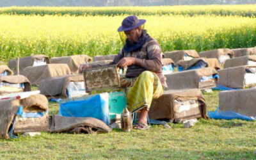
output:
<instances>
[{"instance_id":1,"label":"hazy blue-grey tree line along the top edge","mask_svg":"<svg viewBox=\"0 0 256 160\"><path fill-rule=\"evenodd\" d=\"M158 6L256 4L256 0L0 0L0 6Z\"/></svg>"}]
</instances>

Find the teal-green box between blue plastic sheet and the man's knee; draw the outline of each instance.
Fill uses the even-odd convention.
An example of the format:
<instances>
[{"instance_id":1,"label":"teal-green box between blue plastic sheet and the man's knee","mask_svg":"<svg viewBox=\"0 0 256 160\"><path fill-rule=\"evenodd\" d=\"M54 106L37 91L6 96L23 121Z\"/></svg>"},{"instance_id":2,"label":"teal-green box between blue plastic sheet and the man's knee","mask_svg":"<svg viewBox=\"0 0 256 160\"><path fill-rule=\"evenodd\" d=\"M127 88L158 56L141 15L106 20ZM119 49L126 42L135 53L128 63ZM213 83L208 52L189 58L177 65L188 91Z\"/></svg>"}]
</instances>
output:
<instances>
[{"instance_id":1,"label":"teal-green box between blue plastic sheet and the man's knee","mask_svg":"<svg viewBox=\"0 0 256 160\"><path fill-rule=\"evenodd\" d=\"M121 115L127 101L125 92L113 92L109 93L109 118L114 120L118 115Z\"/></svg>"}]
</instances>

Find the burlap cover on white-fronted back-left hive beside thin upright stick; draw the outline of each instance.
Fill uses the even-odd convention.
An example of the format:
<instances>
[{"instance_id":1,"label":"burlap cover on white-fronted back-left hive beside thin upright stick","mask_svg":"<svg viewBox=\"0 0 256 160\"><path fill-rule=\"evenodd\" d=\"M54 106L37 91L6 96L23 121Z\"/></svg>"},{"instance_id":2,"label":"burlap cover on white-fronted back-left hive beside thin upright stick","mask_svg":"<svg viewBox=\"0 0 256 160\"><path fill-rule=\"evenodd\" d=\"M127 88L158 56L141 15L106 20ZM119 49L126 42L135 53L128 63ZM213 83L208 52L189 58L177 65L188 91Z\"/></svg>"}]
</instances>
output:
<instances>
[{"instance_id":1,"label":"burlap cover on white-fronted back-left hive beside thin upright stick","mask_svg":"<svg viewBox=\"0 0 256 160\"><path fill-rule=\"evenodd\" d=\"M19 59L20 72L22 72L22 70L24 70L26 67L33 66L34 61L36 59L41 59L41 58L45 58L47 64L50 63L49 57L43 54L20 58ZM14 74L17 74L17 59L10 60L8 66L10 67L11 70L13 70Z\"/></svg>"}]
</instances>

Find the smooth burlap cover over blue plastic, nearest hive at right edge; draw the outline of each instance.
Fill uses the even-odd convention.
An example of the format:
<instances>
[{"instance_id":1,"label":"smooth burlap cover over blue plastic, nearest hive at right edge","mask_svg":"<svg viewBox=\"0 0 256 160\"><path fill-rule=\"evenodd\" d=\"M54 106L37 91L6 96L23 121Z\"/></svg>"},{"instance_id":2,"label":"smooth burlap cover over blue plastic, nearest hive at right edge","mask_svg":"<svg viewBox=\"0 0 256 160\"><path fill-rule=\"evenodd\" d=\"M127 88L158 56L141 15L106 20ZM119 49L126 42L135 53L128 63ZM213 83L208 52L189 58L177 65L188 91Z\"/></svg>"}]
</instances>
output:
<instances>
[{"instance_id":1,"label":"smooth burlap cover over blue plastic, nearest hive at right edge","mask_svg":"<svg viewBox=\"0 0 256 160\"><path fill-rule=\"evenodd\" d=\"M234 111L245 116L256 116L256 89L223 91L219 95L221 111Z\"/></svg>"}]
</instances>

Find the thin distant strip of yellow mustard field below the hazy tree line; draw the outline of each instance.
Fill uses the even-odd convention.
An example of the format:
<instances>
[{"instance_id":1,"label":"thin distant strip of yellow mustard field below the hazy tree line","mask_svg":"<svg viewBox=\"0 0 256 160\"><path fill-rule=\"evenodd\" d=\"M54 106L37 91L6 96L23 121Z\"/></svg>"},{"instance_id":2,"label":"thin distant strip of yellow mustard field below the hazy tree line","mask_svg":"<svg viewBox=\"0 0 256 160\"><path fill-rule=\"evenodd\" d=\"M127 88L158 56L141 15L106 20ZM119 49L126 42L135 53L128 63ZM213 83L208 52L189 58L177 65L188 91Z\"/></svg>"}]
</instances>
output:
<instances>
[{"instance_id":1,"label":"thin distant strip of yellow mustard field below the hazy tree line","mask_svg":"<svg viewBox=\"0 0 256 160\"><path fill-rule=\"evenodd\" d=\"M17 15L256 15L255 4L123 7L4 7L0 13Z\"/></svg>"}]
</instances>

